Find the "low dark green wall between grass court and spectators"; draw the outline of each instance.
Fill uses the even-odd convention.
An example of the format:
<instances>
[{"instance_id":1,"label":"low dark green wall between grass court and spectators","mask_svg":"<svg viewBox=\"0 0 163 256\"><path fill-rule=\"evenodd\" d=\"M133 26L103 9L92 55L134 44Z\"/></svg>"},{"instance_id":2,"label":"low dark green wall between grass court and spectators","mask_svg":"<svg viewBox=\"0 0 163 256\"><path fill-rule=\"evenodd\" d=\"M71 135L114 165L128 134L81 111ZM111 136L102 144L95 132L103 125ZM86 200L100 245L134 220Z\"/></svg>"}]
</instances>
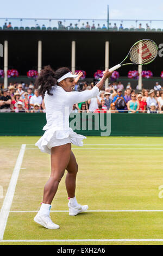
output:
<instances>
[{"instance_id":1,"label":"low dark green wall between grass court and spectators","mask_svg":"<svg viewBox=\"0 0 163 256\"><path fill-rule=\"evenodd\" d=\"M86 114L90 118L91 114ZM97 114L96 114L97 115ZM106 114L105 120L106 120ZM107 114L109 115L109 114ZM95 130L95 120L92 119L93 130L82 130L82 114L70 115L71 121L78 117L80 127L74 130L85 136L101 136L101 124L99 130ZM0 136L42 136L42 127L46 124L45 113L1 113ZM100 119L99 119L100 120ZM107 123L107 125L109 125ZM163 115L161 114L111 114L110 136L163 136Z\"/></svg>"}]
</instances>

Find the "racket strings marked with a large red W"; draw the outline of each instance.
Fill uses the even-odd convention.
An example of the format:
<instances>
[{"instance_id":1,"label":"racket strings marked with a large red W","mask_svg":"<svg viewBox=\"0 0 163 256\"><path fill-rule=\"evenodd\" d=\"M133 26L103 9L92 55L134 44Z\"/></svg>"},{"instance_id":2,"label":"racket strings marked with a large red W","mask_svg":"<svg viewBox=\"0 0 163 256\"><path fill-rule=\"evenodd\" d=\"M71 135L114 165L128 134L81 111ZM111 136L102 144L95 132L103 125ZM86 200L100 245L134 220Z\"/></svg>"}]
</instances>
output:
<instances>
[{"instance_id":1,"label":"racket strings marked with a large red W","mask_svg":"<svg viewBox=\"0 0 163 256\"><path fill-rule=\"evenodd\" d=\"M152 62L158 54L158 48L151 40L141 40L130 50L130 60L135 64L147 64Z\"/></svg>"}]
</instances>

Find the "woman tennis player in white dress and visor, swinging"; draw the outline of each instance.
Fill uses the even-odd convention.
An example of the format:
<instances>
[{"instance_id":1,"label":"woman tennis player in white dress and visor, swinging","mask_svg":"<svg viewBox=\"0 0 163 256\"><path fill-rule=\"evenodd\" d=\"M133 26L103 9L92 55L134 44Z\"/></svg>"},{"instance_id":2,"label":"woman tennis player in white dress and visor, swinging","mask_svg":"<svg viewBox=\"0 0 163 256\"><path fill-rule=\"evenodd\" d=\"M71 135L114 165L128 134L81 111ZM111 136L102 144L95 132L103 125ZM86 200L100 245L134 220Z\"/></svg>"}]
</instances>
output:
<instances>
[{"instance_id":1,"label":"woman tennis player in white dress and visor, swinging","mask_svg":"<svg viewBox=\"0 0 163 256\"><path fill-rule=\"evenodd\" d=\"M77 146L83 145L83 135L79 135L69 127L69 115L74 103L84 102L95 97L103 87L105 80L112 72L104 71L104 75L95 87L83 92L73 92L75 84L83 75L72 75L68 68L60 68L54 71L51 66L45 66L35 82L41 95L45 95L45 108L47 124L43 127L44 135L35 144L42 152L51 154L51 176L43 191L41 208L34 221L48 229L58 229L59 225L52 222L49 212L51 203L58 190L59 182L67 170L66 190L68 194L69 215L75 216L88 209L87 205L77 202L76 176L78 164L71 151L71 143Z\"/></svg>"}]
</instances>

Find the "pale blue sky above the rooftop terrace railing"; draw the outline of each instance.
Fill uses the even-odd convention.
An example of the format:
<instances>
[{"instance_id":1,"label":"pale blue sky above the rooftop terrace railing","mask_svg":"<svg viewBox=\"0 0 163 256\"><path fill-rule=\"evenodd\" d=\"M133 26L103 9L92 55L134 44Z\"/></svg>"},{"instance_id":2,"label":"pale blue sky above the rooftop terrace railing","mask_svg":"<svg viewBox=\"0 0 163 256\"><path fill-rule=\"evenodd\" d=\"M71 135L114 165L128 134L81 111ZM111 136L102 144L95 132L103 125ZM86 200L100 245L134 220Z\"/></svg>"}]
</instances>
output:
<instances>
[{"instance_id":1,"label":"pale blue sky above the rooftop terrace railing","mask_svg":"<svg viewBox=\"0 0 163 256\"><path fill-rule=\"evenodd\" d=\"M1 0L0 17L106 19L107 4L110 19L163 19L161 0Z\"/></svg>"}]
</instances>

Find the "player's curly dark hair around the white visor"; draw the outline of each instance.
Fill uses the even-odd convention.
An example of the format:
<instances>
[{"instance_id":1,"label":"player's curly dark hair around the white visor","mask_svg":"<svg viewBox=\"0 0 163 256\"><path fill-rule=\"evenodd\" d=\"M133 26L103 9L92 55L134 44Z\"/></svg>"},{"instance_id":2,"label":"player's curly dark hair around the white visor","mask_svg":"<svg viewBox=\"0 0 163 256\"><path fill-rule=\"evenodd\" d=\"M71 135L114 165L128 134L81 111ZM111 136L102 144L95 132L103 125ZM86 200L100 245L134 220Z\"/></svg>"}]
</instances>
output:
<instances>
[{"instance_id":1,"label":"player's curly dark hair around the white visor","mask_svg":"<svg viewBox=\"0 0 163 256\"><path fill-rule=\"evenodd\" d=\"M50 65L44 66L35 80L35 87L39 89L39 94L45 95L47 92L48 95L53 95L51 93L52 86L55 86L57 80L68 72L70 72L70 69L66 67L54 71Z\"/></svg>"}]
</instances>

